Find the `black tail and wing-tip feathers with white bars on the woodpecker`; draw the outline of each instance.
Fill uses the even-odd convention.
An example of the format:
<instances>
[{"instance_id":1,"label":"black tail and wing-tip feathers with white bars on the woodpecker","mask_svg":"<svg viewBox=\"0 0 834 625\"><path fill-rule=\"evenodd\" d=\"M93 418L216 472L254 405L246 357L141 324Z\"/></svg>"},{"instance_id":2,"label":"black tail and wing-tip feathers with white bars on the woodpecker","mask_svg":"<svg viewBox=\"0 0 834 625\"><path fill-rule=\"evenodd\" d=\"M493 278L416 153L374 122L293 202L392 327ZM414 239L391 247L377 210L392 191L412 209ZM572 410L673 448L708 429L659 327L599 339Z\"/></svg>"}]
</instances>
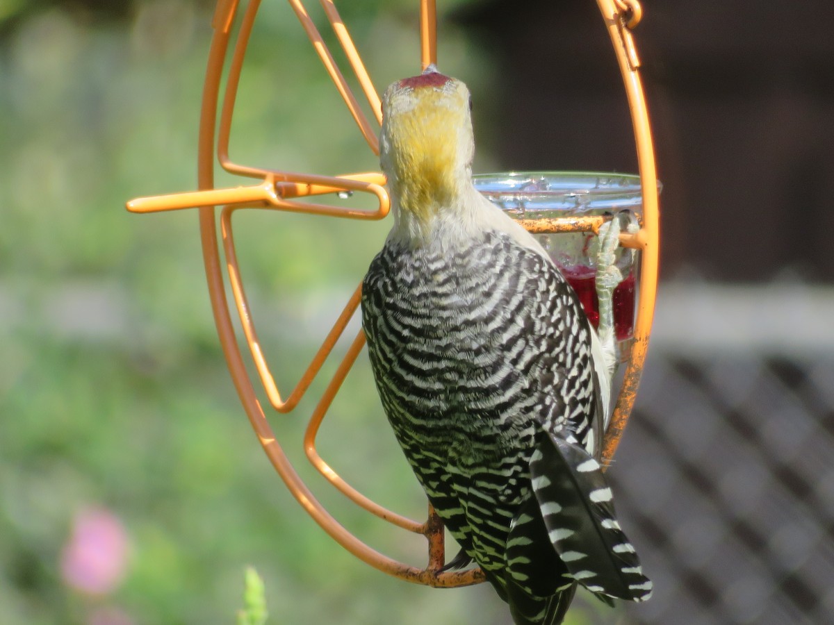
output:
<instances>
[{"instance_id":1,"label":"black tail and wing-tip feathers with white bars on the woodpecker","mask_svg":"<svg viewBox=\"0 0 834 625\"><path fill-rule=\"evenodd\" d=\"M540 429L530 477L532 493L510 525L502 584L516 625L562 622L580 584L609 605L651 597L600 464L584 448Z\"/></svg>"}]
</instances>

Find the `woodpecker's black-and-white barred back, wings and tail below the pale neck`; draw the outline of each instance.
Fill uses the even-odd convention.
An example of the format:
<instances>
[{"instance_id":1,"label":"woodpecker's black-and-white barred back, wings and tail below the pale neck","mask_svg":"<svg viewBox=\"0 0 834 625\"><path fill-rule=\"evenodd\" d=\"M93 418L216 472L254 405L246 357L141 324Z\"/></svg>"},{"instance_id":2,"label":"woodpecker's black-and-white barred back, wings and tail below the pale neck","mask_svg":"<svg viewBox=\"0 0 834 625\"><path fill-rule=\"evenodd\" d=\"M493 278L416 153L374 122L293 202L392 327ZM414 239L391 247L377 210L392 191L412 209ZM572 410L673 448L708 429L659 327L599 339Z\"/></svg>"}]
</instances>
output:
<instances>
[{"instance_id":1,"label":"woodpecker's black-and-white barred back, wings and tail below the pale neck","mask_svg":"<svg viewBox=\"0 0 834 625\"><path fill-rule=\"evenodd\" d=\"M593 459L604 408L575 293L506 233L447 252L389 241L363 285L379 395L414 473L517 622L560 622L575 581L647 598Z\"/></svg>"}]
</instances>

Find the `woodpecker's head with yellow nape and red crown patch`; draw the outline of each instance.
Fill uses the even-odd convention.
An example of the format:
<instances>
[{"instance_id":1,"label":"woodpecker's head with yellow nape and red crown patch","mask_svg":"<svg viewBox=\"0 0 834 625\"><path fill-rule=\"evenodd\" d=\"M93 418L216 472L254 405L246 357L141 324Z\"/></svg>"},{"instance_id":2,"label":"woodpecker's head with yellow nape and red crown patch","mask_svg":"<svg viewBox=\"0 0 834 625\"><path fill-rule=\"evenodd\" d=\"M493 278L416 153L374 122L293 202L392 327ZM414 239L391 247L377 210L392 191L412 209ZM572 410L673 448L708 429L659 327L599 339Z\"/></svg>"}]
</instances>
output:
<instances>
[{"instance_id":1,"label":"woodpecker's head with yellow nape and red crown patch","mask_svg":"<svg viewBox=\"0 0 834 625\"><path fill-rule=\"evenodd\" d=\"M382 97L379 162L401 216L427 223L470 186L470 92L429 66Z\"/></svg>"}]
</instances>

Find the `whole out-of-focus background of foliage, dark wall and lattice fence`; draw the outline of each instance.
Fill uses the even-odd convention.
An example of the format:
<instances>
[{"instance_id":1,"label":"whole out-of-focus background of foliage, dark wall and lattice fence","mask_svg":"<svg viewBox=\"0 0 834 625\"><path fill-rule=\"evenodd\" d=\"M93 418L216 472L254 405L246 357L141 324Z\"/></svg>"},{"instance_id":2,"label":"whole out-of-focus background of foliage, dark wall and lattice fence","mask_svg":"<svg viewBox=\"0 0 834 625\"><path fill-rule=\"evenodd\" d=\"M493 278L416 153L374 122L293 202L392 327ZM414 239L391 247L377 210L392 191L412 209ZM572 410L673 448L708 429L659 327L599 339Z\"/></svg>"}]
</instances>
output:
<instances>
[{"instance_id":1,"label":"whole out-of-focus background of foliage, dark wall and lattice fence","mask_svg":"<svg viewBox=\"0 0 834 625\"><path fill-rule=\"evenodd\" d=\"M417 7L339 3L380 90L419 71ZM269 622L504 625L490 588L399 582L324 535L269 467L234 393L197 215L124 211L129 198L196 184L213 8L0 0L0 621L234 622L251 564ZM829 622L832 9L644 8L663 284L610 477L656 592L613 610L579 597L570 623ZM636 170L595 2L439 10L441 69L474 92L475 171ZM309 173L377 168L279 0L255 25L231 155ZM259 333L289 390L389 224L244 211L235 228ZM424 562L419 540L308 470L300 436L313 405L273 418L298 442L288 451L299 471L360 537ZM423 514L364 361L319 448L365 493Z\"/></svg>"}]
</instances>

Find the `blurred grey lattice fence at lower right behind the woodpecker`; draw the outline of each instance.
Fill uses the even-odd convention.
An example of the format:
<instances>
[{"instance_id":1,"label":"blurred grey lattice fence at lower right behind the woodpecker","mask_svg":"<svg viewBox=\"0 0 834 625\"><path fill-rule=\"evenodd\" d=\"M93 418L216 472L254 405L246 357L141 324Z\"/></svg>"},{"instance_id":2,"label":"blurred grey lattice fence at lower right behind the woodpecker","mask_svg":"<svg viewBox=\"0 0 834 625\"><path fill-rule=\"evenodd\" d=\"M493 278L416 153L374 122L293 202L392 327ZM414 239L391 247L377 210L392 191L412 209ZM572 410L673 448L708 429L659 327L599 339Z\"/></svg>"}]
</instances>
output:
<instances>
[{"instance_id":1,"label":"blurred grey lattice fence at lower right behind the woodpecker","mask_svg":"<svg viewBox=\"0 0 834 625\"><path fill-rule=\"evenodd\" d=\"M753 298L747 319L776 299ZM829 308L816 310L819 332L834 323ZM798 320L783 321L773 329L790 343ZM650 351L610 472L656 583L630 620L834 622L832 338L804 355L753 343L709 353L697 340L671 350L662 339Z\"/></svg>"}]
</instances>

